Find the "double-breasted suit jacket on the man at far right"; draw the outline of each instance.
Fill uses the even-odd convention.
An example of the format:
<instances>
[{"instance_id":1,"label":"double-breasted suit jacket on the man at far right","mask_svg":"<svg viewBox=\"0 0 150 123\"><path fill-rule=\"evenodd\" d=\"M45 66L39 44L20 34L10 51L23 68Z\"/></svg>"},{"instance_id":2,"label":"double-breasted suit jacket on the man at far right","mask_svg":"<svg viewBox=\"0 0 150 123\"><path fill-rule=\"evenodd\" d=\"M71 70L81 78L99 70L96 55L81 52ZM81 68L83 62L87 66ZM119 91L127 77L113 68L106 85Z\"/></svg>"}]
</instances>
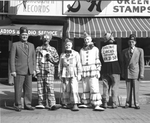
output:
<instances>
[{"instance_id":1,"label":"double-breasted suit jacket on the man at far right","mask_svg":"<svg viewBox=\"0 0 150 123\"><path fill-rule=\"evenodd\" d=\"M144 77L144 52L143 49L135 47L133 55L130 49L123 50L123 75L125 79L138 79Z\"/></svg>"}]
</instances>

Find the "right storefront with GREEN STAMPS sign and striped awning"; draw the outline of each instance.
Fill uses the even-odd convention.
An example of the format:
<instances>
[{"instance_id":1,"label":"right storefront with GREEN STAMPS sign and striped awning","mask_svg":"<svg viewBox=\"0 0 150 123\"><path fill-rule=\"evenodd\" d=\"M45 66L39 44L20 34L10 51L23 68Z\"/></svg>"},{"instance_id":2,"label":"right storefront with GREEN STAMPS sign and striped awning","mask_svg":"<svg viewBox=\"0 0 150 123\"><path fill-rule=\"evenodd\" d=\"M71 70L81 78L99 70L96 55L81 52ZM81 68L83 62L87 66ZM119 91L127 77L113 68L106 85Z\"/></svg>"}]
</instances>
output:
<instances>
[{"instance_id":1,"label":"right storefront with GREEN STAMPS sign and striped awning","mask_svg":"<svg viewBox=\"0 0 150 123\"><path fill-rule=\"evenodd\" d=\"M66 35L74 39L77 50L82 47L80 42L83 44L84 31L92 36L99 49L106 32L113 33L120 50L128 47L129 35L135 34L137 46L143 48L145 54L144 80L150 80L149 0L80 1L74 2L69 11L64 13L69 16Z\"/></svg>"}]
</instances>

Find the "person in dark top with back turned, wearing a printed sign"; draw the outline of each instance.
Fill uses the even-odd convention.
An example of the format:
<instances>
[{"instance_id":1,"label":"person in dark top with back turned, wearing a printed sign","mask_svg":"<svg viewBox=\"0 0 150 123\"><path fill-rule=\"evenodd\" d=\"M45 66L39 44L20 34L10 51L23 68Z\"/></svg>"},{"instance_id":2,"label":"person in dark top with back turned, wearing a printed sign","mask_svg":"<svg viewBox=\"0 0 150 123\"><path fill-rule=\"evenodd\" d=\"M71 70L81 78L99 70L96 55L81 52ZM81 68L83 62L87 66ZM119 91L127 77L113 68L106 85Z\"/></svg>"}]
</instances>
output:
<instances>
[{"instance_id":1,"label":"person in dark top with back turned, wearing a printed sign","mask_svg":"<svg viewBox=\"0 0 150 123\"><path fill-rule=\"evenodd\" d=\"M109 93L112 95L112 108L117 108L117 94L121 74L121 53L118 50L112 33L104 35L102 54L103 107L107 108Z\"/></svg>"}]
</instances>

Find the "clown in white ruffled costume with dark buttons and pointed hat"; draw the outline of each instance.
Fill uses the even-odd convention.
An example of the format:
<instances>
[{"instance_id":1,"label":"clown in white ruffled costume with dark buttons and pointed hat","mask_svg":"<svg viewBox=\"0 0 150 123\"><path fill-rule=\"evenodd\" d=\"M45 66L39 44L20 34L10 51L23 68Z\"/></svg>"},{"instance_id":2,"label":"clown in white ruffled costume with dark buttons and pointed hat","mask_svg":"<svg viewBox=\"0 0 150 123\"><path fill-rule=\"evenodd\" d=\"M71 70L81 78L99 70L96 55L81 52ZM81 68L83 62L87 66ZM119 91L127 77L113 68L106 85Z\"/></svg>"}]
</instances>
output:
<instances>
[{"instance_id":1,"label":"clown in white ruffled costume with dark buttons and pointed hat","mask_svg":"<svg viewBox=\"0 0 150 123\"><path fill-rule=\"evenodd\" d=\"M99 90L99 78L101 62L99 60L99 49L94 46L92 38L84 32L84 46L80 50L82 64L83 94L81 97L83 105L80 107L93 106L94 110L103 111L100 107L101 94Z\"/></svg>"}]
</instances>

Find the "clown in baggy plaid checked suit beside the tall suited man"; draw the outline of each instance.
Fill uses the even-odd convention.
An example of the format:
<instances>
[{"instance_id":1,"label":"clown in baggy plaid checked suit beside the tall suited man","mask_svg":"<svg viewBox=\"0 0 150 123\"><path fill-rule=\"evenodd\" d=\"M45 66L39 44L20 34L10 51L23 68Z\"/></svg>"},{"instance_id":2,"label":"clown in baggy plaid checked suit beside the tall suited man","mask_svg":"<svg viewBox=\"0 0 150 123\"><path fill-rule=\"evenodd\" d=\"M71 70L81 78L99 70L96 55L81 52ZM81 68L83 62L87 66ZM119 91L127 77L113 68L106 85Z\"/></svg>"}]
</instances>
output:
<instances>
[{"instance_id":1,"label":"clown in baggy plaid checked suit beside the tall suited man","mask_svg":"<svg viewBox=\"0 0 150 123\"><path fill-rule=\"evenodd\" d=\"M54 64L58 63L59 56L54 47L49 45L52 39L51 34L42 36L43 45L36 48L36 73L38 104L36 108L45 108L55 110L56 106L54 94ZM48 100L48 104L46 103Z\"/></svg>"}]
</instances>

